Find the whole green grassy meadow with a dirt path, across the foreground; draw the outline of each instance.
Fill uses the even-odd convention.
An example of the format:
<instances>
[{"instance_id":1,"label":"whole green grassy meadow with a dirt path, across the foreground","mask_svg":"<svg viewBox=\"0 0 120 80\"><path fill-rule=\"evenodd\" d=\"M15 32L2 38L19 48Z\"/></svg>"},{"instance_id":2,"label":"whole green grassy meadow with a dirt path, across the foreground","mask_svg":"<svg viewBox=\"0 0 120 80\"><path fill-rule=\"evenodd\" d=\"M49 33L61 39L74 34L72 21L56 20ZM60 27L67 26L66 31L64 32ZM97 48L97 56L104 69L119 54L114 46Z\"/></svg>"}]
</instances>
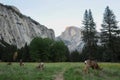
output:
<instances>
[{"instance_id":1,"label":"whole green grassy meadow with a dirt path, across the foreground","mask_svg":"<svg viewBox=\"0 0 120 80\"><path fill-rule=\"evenodd\" d=\"M89 69L84 73L84 63L45 63L45 69L37 69L39 63L0 63L0 80L120 80L120 63L99 63L102 71ZM60 77L60 78L57 78Z\"/></svg>"}]
</instances>

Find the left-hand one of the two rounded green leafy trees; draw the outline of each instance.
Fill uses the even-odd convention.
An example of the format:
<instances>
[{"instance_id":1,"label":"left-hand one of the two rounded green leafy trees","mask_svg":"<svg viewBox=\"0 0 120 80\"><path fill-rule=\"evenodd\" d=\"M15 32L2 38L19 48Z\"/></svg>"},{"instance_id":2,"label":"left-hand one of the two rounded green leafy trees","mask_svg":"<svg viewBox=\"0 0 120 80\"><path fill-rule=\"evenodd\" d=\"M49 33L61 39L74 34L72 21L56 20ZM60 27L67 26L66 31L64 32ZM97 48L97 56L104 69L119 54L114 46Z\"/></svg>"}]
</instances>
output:
<instances>
[{"instance_id":1,"label":"left-hand one of the two rounded green leafy trees","mask_svg":"<svg viewBox=\"0 0 120 80\"><path fill-rule=\"evenodd\" d=\"M30 57L33 61L48 61L49 60L49 47L52 40L45 38L34 38L30 43Z\"/></svg>"}]
</instances>

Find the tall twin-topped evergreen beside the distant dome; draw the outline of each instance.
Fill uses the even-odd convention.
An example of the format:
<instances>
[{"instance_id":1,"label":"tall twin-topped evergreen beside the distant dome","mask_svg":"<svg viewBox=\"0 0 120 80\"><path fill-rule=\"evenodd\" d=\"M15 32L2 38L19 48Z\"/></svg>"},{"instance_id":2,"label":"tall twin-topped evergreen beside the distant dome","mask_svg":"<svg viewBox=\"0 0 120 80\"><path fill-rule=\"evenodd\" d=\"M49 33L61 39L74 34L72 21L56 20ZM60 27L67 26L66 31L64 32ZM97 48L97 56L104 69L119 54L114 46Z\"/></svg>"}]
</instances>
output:
<instances>
[{"instance_id":1,"label":"tall twin-topped evergreen beside the distant dome","mask_svg":"<svg viewBox=\"0 0 120 80\"><path fill-rule=\"evenodd\" d=\"M95 46L97 45L97 31L91 10L89 10L89 12L87 10L85 11L83 25L82 32L83 41L85 43L83 52L85 52L86 56L89 58L93 58L95 53Z\"/></svg>"}]
</instances>

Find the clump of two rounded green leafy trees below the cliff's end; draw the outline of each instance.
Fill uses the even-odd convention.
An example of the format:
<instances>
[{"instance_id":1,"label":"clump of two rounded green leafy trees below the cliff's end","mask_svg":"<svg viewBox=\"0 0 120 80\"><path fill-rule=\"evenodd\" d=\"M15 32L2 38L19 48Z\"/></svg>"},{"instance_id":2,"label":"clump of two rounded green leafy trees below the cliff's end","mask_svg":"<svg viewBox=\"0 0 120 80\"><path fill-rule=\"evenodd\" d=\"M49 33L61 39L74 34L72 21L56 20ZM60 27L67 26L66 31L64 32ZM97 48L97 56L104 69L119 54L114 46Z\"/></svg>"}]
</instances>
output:
<instances>
[{"instance_id":1,"label":"clump of two rounded green leafy trees below the cliff's end","mask_svg":"<svg viewBox=\"0 0 120 80\"><path fill-rule=\"evenodd\" d=\"M32 61L66 61L68 53L68 48L62 41L37 37L30 43L30 58Z\"/></svg>"}]
</instances>

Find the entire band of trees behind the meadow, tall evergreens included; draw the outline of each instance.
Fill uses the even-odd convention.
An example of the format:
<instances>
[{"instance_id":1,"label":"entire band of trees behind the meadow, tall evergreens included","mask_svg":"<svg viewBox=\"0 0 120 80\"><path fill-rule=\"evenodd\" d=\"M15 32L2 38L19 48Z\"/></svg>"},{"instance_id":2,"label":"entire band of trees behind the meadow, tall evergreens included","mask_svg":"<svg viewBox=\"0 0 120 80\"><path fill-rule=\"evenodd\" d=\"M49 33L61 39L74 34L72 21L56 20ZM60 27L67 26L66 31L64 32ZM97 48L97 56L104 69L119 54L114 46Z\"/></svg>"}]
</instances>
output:
<instances>
[{"instance_id":1,"label":"entire band of trees behind the meadow, tall evergreens included","mask_svg":"<svg viewBox=\"0 0 120 80\"><path fill-rule=\"evenodd\" d=\"M84 47L82 52L69 52L62 41L49 38L34 38L30 44L18 49L2 38L0 40L0 60L2 61L41 61L41 62L79 62L94 59L104 62L120 61L120 28L113 11L107 6L103 14L101 32L97 32L92 11L85 10L82 26ZM16 56L15 59L14 55Z\"/></svg>"}]
</instances>

